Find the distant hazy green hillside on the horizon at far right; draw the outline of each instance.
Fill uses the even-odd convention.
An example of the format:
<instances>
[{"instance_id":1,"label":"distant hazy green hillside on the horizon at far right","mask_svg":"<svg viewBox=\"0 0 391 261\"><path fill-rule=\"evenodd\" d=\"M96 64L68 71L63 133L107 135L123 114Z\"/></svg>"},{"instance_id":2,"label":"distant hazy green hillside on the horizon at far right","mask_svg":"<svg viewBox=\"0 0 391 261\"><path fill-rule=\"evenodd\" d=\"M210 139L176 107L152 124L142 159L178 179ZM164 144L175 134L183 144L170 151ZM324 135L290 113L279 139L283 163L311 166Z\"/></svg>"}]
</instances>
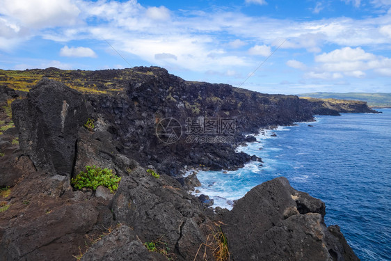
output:
<instances>
[{"instance_id":1,"label":"distant hazy green hillside on the horizon at far right","mask_svg":"<svg viewBox=\"0 0 391 261\"><path fill-rule=\"evenodd\" d=\"M359 100L368 106L391 107L391 93L302 93L300 97L334 98L340 100Z\"/></svg>"}]
</instances>

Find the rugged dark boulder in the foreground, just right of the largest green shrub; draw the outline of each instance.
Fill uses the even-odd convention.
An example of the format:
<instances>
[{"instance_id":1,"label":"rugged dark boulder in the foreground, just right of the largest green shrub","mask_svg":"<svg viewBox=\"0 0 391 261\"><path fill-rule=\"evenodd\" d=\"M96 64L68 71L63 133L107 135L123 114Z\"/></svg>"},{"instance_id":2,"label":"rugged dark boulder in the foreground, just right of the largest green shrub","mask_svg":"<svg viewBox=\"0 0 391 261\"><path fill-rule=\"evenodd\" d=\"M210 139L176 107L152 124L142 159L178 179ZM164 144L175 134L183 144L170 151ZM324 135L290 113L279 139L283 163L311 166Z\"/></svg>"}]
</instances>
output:
<instances>
[{"instance_id":1,"label":"rugged dark boulder in the foreground, just right of the largest green shrub","mask_svg":"<svg viewBox=\"0 0 391 261\"><path fill-rule=\"evenodd\" d=\"M142 242L165 242L179 260L193 260L205 242L203 209L173 177L157 179L141 167L122 177L113 199L116 221L134 228Z\"/></svg>"}]
</instances>

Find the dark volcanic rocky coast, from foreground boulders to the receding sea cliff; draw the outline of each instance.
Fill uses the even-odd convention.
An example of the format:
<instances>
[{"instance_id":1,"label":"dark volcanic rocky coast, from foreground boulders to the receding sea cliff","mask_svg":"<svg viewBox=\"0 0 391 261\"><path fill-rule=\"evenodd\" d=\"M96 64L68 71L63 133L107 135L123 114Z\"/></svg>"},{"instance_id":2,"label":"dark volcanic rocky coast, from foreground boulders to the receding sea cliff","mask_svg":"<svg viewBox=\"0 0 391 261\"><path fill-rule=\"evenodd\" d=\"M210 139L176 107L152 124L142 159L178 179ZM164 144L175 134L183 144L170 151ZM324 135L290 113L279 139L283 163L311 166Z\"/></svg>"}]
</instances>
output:
<instances>
[{"instance_id":1,"label":"dark volcanic rocky coast, from foreground boulders to the receding sea cliff","mask_svg":"<svg viewBox=\"0 0 391 261\"><path fill-rule=\"evenodd\" d=\"M186 164L229 169L257 160L234 152L244 134L311 120L317 105L188 82L161 68L4 75L0 260L358 260L339 228L324 224L324 203L285 178L214 212L179 175ZM183 125L183 137L161 139L164 118ZM233 119L234 129L217 134L234 140L186 141L189 118ZM120 176L118 190L72 187L87 165Z\"/></svg>"}]
</instances>

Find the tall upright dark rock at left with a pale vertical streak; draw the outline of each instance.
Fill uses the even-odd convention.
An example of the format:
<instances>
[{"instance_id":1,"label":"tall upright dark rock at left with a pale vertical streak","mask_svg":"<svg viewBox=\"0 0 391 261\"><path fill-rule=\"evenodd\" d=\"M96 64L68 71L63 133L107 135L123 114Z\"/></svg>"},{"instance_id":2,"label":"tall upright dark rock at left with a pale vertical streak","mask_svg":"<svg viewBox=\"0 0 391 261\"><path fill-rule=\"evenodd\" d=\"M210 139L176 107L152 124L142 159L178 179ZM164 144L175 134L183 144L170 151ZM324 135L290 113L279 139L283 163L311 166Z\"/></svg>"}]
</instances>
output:
<instances>
[{"instance_id":1,"label":"tall upright dark rock at left with a pale vertical streak","mask_svg":"<svg viewBox=\"0 0 391 261\"><path fill-rule=\"evenodd\" d=\"M12 109L20 148L35 167L70 175L77 132L88 118L83 95L45 78L26 99L13 102Z\"/></svg>"}]
</instances>

